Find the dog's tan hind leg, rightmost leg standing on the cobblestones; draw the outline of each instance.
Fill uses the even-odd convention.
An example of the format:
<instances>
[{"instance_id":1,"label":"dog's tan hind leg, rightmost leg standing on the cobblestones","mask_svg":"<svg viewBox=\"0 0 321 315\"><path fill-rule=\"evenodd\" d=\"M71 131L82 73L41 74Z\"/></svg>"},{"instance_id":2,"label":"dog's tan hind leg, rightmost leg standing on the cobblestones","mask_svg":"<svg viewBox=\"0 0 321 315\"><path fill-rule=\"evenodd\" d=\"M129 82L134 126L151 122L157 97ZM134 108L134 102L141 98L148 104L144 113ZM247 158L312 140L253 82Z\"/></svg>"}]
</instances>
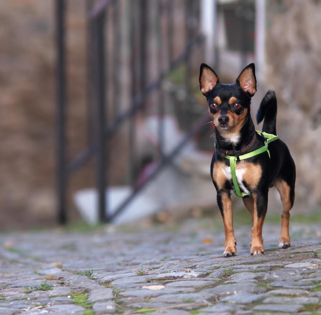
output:
<instances>
[{"instance_id":1,"label":"dog's tan hind leg, rightmost leg standing on the cobblestones","mask_svg":"<svg viewBox=\"0 0 321 315\"><path fill-rule=\"evenodd\" d=\"M290 235L289 235L289 221L290 221L290 210L293 206L293 195L292 188L284 180L275 181L275 187L278 190L281 201L283 204L283 212L281 214L281 235L279 240L279 248L290 247Z\"/></svg>"}]
</instances>

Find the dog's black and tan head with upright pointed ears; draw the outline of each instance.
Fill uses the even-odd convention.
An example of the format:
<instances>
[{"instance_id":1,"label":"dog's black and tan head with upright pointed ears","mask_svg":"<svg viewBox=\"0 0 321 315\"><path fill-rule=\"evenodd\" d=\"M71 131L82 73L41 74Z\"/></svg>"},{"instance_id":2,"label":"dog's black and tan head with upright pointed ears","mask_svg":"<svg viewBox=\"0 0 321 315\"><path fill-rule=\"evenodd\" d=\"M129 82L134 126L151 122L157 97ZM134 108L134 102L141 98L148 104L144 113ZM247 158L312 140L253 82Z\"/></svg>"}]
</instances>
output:
<instances>
[{"instance_id":1,"label":"dog's black and tan head with upright pointed ears","mask_svg":"<svg viewBox=\"0 0 321 315\"><path fill-rule=\"evenodd\" d=\"M234 84L220 84L208 65L200 65L200 91L206 96L209 113L217 131L231 143L237 142L240 130L250 117L251 97L256 92L254 64L239 74Z\"/></svg>"}]
</instances>

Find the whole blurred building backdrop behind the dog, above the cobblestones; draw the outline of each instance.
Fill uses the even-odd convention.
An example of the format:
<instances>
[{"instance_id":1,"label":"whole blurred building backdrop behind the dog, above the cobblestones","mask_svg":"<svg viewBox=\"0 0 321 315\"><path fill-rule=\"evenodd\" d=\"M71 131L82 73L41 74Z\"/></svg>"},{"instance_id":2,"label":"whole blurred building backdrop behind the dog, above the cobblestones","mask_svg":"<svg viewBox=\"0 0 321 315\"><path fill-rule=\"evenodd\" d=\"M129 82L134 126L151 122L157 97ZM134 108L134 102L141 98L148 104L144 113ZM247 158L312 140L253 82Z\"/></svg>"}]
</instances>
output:
<instances>
[{"instance_id":1,"label":"whole blurred building backdrop behind the dog, above the cobblestones","mask_svg":"<svg viewBox=\"0 0 321 315\"><path fill-rule=\"evenodd\" d=\"M315 0L0 2L0 228L52 226L57 209L66 214L62 221L84 218L82 203L89 200L98 209L98 183L121 186L113 192L121 198L137 190L136 198L153 211L215 208L212 130L198 92L202 62L224 83L255 62L252 114L266 90L274 89L277 131L297 166L293 212L319 210L320 12ZM64 83L57 80L59 17L65 43L63 152L57 150L57 82ZM99 117L108 135L101 142ZM64 209L57 152L66 162L60 176ZM112 198L107 206L116 209L120 204L111 205ZM270 211L279 207L274 199L271 190Z\"/></svg>"}]
</instances>

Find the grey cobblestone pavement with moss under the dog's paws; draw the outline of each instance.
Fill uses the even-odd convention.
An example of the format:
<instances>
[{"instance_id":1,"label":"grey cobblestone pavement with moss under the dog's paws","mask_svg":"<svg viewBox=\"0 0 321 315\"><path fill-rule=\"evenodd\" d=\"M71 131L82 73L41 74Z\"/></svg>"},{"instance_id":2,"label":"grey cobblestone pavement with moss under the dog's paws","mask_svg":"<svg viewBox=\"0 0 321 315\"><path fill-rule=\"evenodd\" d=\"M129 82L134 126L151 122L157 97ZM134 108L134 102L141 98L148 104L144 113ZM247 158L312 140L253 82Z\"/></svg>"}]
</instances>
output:
<instances>
[{"instance_id":1,"label":"grey cobblestone pavement with moss under the dog's paws","mask_svg":"<svg viewBox=\"0 0 321 315\"><path fill-rule=\"evenodd\" d=\"M0 314L320 314L320 225L265 224L265 255L249 254L250 228L209 218L148 228L0 234Z\"/></svg>"}]
</instances>

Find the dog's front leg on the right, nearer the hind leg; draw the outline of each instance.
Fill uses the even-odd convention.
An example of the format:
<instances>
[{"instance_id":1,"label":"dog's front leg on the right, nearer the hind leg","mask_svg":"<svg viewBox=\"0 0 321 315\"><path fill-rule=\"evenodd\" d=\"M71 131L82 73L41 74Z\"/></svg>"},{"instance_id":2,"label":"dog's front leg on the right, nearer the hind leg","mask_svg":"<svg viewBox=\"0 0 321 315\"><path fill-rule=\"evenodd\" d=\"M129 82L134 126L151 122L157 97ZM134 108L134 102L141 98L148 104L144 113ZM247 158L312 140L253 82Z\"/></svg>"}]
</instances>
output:
<instances>
[{"instance_id":1,"label":"dog's front leg on the right, nearer the hind leg","mask_svg":"<svg viewBox=\"0 0 321 315\"><path fill-rule=\"evenodd\" d=\"M267 193L253 195L254 211L252 216L253 226L251 235L251 255L264 254L262 229L268 206Z\"/></svg>"}]
</instances>

